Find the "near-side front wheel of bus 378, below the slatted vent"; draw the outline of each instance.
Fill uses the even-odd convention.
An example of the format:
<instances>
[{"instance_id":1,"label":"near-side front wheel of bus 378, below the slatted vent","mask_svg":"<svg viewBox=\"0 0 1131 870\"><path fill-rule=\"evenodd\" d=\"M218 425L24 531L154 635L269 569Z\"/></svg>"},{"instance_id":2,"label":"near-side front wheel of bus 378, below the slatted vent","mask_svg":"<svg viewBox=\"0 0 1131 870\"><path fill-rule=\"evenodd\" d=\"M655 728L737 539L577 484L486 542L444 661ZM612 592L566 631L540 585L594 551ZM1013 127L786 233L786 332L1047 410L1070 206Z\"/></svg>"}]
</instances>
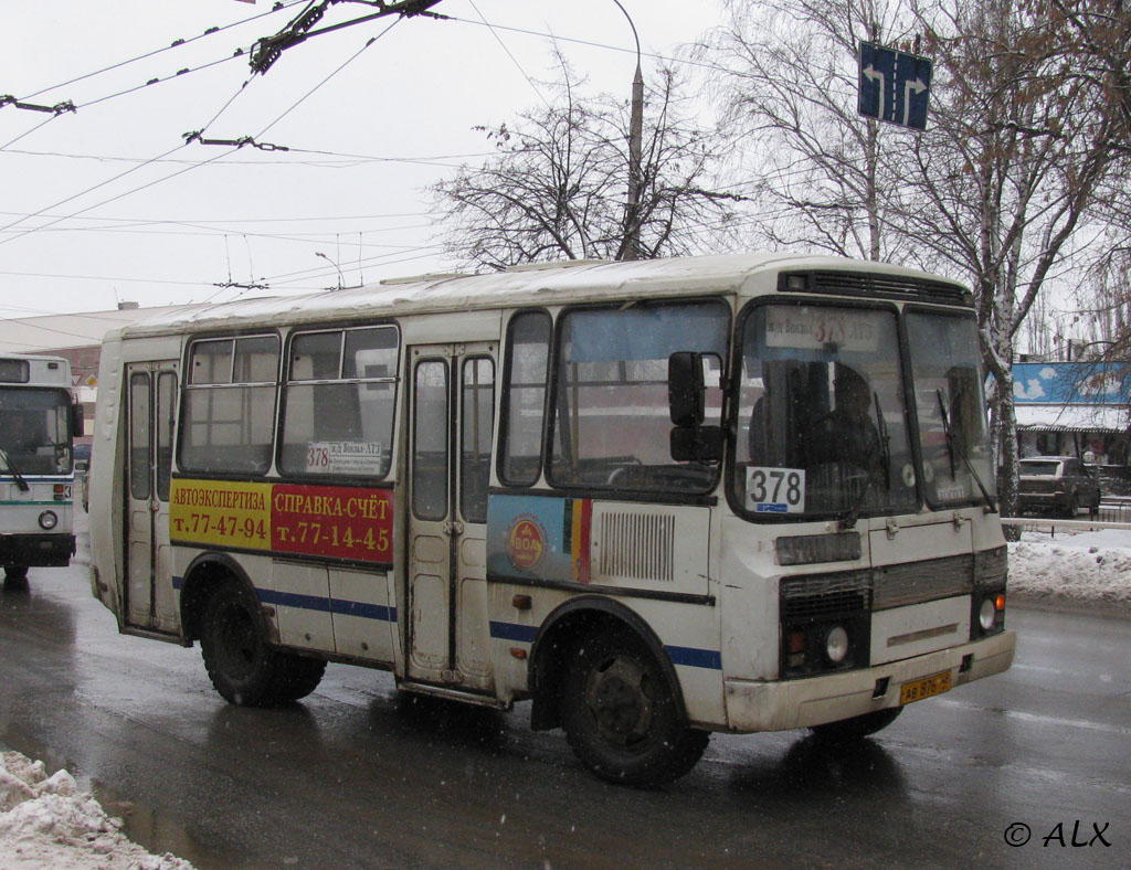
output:
<instances>
[{"instance_id":1,"label":"near-side front wheel of bus 378, below the slatted vent","mask_svg":"<svg viewBox=\"0 0 1131 870\"><path fill-rule=\"evenodd\" d=\"M688 728L655 655L624 629L589 635L577 645L564 679L562 725L593 773L636 786L683 776L710 739Z\"/></svg>"}]
</instances>

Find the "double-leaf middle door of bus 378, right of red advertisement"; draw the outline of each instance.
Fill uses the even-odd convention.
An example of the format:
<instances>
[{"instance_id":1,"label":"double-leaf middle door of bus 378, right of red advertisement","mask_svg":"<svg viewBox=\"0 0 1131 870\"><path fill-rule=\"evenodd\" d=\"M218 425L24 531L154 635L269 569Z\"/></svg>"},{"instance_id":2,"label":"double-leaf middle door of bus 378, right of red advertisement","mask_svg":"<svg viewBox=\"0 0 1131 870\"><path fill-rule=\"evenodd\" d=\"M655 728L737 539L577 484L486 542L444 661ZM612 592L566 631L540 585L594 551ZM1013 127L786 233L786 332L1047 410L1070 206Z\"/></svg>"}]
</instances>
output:
<instances>
[{"instance_id":1,"label":"double-leaf middle door of bus 378, right of red advertisement","mask_svg":"<svg viewBox=\"0 0 1131 870\"><path fill-rule=\"evenodd\" d=\"M490 691L486 514L495 346L414 347L409 359L406 676Z\"/></svg>"}]
</instances>

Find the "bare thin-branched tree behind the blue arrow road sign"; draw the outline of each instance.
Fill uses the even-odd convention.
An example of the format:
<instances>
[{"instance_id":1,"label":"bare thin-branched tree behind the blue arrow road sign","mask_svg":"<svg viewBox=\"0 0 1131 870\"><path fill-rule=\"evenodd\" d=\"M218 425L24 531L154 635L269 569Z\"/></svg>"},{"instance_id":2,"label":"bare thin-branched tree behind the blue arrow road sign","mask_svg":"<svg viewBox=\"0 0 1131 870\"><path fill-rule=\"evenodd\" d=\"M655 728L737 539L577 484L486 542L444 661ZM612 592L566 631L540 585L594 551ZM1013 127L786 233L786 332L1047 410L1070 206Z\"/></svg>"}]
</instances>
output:
<instances>
[{"instance_id":1,"label":"bare thin-branched tree behind the blue arrow road sign","mask_svg":"<svg viewBox=\"0 0 1131 870\"><path fill-rule=\"evenodd\" d=\"M699 45L724 120L746 142L763 212L753 234L774 247L899 260L884 233L903 133L856 111L862 38L909 40L908 10L887 0L726 0L728 20ZM748 168L749 167L749 168Z\"/></svg>"}]
</instances>

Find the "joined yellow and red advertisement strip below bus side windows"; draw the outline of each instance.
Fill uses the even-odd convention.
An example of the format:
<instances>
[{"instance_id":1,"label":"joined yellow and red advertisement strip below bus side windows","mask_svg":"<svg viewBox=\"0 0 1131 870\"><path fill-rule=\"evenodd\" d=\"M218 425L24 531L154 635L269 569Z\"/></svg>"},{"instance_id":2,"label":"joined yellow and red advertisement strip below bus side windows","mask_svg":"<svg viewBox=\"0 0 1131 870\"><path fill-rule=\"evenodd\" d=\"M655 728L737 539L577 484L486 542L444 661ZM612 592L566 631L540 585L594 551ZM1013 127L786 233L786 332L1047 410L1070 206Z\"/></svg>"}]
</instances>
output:
<instances>
[{"instance_id":1,"label":"joined yellow and red advertisement strip below bus side windows","mask_svg":"<svg viewBox=\"0 0 1131 870\"><path fill-rule=\"evenodd\" d=\"M392 562L392 491L301 484L174 479L178 543Z\"/></svg>"}]
</instances>

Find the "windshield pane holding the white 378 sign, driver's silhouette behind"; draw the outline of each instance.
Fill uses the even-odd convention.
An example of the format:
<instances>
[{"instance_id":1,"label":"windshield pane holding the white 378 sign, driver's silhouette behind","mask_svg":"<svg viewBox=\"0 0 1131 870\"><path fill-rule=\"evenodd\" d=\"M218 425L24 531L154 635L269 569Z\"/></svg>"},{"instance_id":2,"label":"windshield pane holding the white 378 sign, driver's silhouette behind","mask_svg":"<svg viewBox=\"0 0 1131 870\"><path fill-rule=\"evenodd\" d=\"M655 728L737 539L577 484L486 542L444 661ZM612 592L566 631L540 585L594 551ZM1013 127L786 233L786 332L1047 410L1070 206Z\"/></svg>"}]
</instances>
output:
<instances>
[{"instance_id":1,"label":"windshield pane holding the white 378 sign, driver's silhouette behind","mask_svg":"<svg viewBox=\"0 0 1131 870\"><path fill-rule=\"evenodd\" d=\"M916 504L895 310L762 305L741 347L736 504L793 519Z\"/></svg>"}]
</instances>

